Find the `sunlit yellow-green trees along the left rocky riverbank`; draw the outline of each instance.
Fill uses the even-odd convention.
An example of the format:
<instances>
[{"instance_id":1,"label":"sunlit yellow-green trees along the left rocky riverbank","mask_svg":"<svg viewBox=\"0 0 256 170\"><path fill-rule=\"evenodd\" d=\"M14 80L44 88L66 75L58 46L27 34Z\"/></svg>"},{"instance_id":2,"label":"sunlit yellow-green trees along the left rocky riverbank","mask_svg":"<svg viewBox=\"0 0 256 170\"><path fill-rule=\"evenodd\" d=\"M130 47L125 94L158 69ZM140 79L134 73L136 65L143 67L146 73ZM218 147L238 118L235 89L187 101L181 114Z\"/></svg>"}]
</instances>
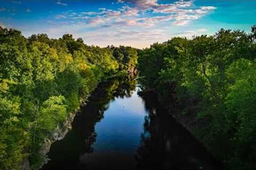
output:
<instances>
[{"instance_id":1,"label":"sunlit yellow-green trees along the left rocky riverbank","mask_svg":"<svg viewBox=\"0 0 256 170\"><path fill-rule=\"evenodd\" d=\"M74 113L98 83L134 70L137 49L87 46L81 38L25 38L0 27L0 169L31 169L45 138Z\"/></svg>"}]
</instances>

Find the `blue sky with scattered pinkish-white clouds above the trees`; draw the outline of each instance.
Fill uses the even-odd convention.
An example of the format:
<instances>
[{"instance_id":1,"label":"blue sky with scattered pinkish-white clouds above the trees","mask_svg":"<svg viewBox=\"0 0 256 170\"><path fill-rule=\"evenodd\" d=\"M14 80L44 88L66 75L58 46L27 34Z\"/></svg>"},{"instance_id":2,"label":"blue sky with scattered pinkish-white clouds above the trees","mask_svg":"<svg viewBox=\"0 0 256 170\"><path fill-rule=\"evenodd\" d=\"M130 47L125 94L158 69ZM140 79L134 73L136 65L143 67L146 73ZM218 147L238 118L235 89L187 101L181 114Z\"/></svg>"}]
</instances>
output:
<instances>
[{"instance_id":1,"label":"blue sky with scattered pinkish-white clouds above the trees","mask_svg":"<svg viewBox=\"0 0 256 170\"><path fill-rule=\"evenodd\" d=\"M0 0L0 25L29 37L69 33L88 45L137 48L172 37L251 31L256 0Z\"/></svg>"}]
</instances>

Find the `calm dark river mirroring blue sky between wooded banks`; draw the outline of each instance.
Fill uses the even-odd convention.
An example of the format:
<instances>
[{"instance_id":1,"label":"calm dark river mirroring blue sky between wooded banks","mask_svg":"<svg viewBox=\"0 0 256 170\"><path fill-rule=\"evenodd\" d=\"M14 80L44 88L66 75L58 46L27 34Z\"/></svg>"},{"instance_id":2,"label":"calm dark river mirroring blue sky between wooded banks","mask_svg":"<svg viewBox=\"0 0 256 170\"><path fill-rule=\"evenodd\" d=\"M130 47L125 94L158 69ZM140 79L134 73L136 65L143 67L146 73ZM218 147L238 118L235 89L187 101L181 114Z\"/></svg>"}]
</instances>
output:
<instances>
[{"instance_id":1,"label":"calm dark river mirroring blue sky between wooded banks","mask_svg":"<svg viewBox=\"0 0 256 170\"><path fill-rule=\"evenodd\" d=\"M101 84L43 169L219 169L219 163L136 81Z\"/></svg>"}]
</instances>

